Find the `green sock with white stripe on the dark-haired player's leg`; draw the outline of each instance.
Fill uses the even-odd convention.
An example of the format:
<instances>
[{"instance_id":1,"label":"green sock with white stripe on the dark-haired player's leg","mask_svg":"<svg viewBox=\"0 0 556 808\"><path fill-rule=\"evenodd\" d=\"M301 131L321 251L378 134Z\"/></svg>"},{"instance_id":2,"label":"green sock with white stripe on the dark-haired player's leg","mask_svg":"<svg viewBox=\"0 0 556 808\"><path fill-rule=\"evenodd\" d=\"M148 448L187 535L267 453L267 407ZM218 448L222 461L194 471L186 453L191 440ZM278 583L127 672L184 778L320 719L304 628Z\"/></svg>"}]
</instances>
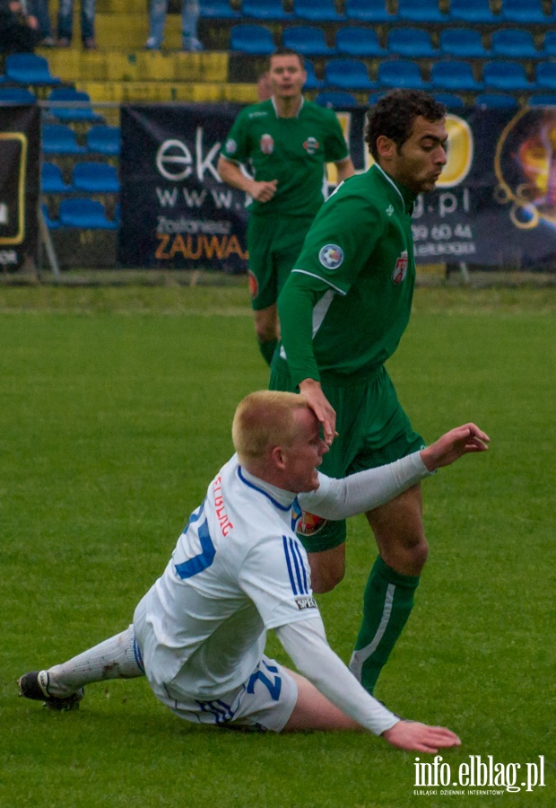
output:
<instances>
[{"instance_id":1,"label":"green sock with white stripe on the dark-haired player's leg","mask_svg":"<svg viewBox=\"0 0 556 808\"><path fill-rule=\"evenodd\" d=\"M363 596L363 620L350 670L372 693L378 676L413 609L419 575L402 575L378 556Z\"/></svg>"}]
</instances>

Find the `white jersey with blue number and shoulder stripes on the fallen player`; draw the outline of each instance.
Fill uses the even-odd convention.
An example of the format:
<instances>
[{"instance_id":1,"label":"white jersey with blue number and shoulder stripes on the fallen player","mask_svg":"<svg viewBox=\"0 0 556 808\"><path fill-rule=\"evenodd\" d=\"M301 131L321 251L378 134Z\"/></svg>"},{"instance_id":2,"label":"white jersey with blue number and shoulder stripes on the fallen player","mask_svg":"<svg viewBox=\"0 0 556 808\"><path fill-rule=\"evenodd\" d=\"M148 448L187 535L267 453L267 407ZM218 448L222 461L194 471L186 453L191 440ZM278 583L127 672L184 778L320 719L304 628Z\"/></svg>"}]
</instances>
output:
<instances>
[{"instance_id":1,"label":"white jersey with blue number and shoulder stripes on the fallen player","mask_svg":"<svg viewBox=\"0 0 556 808\"><path fill-rule=\"evenodd\" d=\"M164 574L143 598L138 639L154 692L197 699L239 689L266 629L315 616L297 498L261 482L237 455L208 487Z\"/></svg>"}]
</instances>

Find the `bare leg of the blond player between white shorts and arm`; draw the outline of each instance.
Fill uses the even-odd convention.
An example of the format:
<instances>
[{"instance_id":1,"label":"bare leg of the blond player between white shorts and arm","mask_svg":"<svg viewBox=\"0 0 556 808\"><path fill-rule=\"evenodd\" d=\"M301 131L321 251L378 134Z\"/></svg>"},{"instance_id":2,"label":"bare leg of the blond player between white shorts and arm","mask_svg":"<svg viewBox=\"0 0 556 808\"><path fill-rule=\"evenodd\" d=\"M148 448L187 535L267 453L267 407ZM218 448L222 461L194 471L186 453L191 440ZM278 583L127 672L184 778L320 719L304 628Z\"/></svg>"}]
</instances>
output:
<instances>
[{"instance_id":1,"label":"bare leg of the blond player between white shorts and arm","mask_svg":"<svg viewBox=\"0 0 556 808\"><path fill-rule=\"evenodd\" d=\"M297 683L298 698L287 724L282 729L282 733L295 733L303 730L323 732L358 730L364 732L361 725L357 724L349 716L345 716L304 676L289 669L286 670Z\"/></svg>"}]
</instances>

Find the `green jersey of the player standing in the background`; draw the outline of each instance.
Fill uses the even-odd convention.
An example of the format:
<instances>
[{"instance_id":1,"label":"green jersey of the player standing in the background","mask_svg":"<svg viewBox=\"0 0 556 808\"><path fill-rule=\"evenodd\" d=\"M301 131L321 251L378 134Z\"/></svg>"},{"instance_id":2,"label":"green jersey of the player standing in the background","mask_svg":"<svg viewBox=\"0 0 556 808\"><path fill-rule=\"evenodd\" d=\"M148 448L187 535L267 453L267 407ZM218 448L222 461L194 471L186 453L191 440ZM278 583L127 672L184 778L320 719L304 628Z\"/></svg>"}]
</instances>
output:
<instances>
[{"instance_id":1,"label":"green jersey of the player standing in the background","mask_svg":"<svg viewBox=\"0 0 556 808\"><path fill-rule=\"evenodd\" d=\"M256 215L314 216L325 200L325 163L347 158L334 110L302 101L295 118L279 118L272 99L241 110L221 154L245 165L258 181L278 180Z\"/></svg>"}]
</instances>

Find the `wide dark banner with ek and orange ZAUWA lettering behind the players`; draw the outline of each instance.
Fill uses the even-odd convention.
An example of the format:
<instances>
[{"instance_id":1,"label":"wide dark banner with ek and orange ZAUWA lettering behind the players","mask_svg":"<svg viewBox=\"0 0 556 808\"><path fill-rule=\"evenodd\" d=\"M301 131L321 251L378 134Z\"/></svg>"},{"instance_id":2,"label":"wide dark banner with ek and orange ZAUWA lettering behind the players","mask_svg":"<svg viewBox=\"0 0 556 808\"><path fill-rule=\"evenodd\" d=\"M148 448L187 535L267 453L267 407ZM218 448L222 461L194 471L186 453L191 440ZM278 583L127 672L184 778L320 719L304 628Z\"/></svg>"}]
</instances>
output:
<instances>
[{"instance_id":1,"label":"wide dark banner with ek and orange ZAUWA lettering behind the players","mask_svg":"<svg viewBox=\"0 0 556 808\"><path fill-rule=\"evenodd\" d=\"M123 108L122 264L247 267L249 200L215 168L239 109ZM337 112L357 171L372 162L365 112ZM447 166L413 215L417 261L556 269L556 110L470 108L448 113L447 130Z\"/></svg>"}]
</instances>

